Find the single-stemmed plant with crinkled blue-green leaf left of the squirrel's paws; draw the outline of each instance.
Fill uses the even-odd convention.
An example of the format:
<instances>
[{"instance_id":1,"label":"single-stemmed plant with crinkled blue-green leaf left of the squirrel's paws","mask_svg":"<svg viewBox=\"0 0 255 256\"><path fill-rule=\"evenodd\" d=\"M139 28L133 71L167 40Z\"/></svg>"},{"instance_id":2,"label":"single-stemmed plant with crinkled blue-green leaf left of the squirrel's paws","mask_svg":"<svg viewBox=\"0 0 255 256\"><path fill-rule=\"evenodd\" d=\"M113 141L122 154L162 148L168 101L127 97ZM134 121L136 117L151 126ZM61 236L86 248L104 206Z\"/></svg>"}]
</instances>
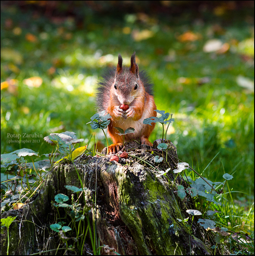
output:
<instances>
[{"instance_id":1,"label":"single-stemmed plant with crinkled blue-green leaf left of the squirrel's paws","mask_svg":"<svg viewBox=\"0 0 255 256\"><path fill-rule=\"evenodd\" d=\"M88 122L87 124L90 124L91 125L91 128L93 129L93 130L95 130L95 129L102 129L102 131L103 131L103 134L104 134L104 136L105 136L105 138L106 138L106 143L107 143L107 155L108 155L108 147L109 147L109 144L108 144L108 139L107 139L107 137L106 137L106 134L105 134L105 132L104 132L104 130L103 129L106 129L107 128L107 126L108 126L108 124L110 123L110 118L112 118L112 116L110 115L110 114L108 114L105 110L103 110L103 111L101 111L101 112L99 112L99 113L96 113L95 115L93 115L90 119L91 119L91 121L90 122ZM94 120L97 120L97 122L96 121L94 121Z\"/></svg>"}]
</instances>

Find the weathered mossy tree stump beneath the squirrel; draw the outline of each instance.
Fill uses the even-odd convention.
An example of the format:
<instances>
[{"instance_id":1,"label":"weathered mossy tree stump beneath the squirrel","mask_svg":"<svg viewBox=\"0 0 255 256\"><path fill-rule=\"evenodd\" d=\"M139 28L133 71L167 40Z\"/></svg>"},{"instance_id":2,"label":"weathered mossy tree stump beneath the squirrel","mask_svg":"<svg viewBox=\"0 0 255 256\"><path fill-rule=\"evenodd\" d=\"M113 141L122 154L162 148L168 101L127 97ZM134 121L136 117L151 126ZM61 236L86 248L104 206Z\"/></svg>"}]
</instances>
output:
<instances>
[{"instance_id":1,"label":"weathered mossy tree stump beneath the squirrel","mask_svg":"<svg viewBox=\"0 0 255 256\"><path fill-rule=\"evenodd\" d=\"M89 220L91 227L95 223L101 255L116 255L115 252L120 255L210 255L200 240L203 230L196 221L190 231L187 224L177 220L188 217L186 209L191 206L181 202L174 193L176 189L171 186L174 175L156 177L159 168L176 168L176 148L171 144L168 161L159 164L152 161L154 155L147 150L149 148L131 151L127 159L119 157L119 162L109 161L111 155L84 155L75 161L76 170L87 188L85 199L94 204ZM157 153L162 155L159 150ZM17 216L9 228L10 255L36 252L55 255L55 251L44 253L59 244L58 234L50 229L50 224L56 221L52 202L58 193L71 198L72 193L65 185L81 188L76 170L73 164L55 167L31 202L1 215L1 218ZM4 230L1 253L6 252L7 230ZM62 253L63 250L58 251ZM89 236L83 254L92 254Z\"/></svg>"}]
</instances>

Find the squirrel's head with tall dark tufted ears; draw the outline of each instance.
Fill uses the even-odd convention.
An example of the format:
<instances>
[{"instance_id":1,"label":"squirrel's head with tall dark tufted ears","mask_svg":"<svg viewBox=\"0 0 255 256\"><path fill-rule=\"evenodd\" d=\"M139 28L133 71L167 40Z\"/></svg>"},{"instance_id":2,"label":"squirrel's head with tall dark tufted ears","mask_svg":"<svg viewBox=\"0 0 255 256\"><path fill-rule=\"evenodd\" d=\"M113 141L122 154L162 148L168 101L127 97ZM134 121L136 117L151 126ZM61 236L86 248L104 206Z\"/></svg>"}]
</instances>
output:
<instances>
[{"instance_id":1,"label":"squirrel's head with tall dark tufted ears","mask_svg":"<svg viewBox=\"0 0 255 256\"><path fill-rule=\"evenodd\" d=\"M111 92L120 104L129 105L135 100L144 100L145 89L139 78L139 68L135 63L135 52L131 56L130 68L122 66L122 57L119 54Z\"/></svg>"}]
</instances>

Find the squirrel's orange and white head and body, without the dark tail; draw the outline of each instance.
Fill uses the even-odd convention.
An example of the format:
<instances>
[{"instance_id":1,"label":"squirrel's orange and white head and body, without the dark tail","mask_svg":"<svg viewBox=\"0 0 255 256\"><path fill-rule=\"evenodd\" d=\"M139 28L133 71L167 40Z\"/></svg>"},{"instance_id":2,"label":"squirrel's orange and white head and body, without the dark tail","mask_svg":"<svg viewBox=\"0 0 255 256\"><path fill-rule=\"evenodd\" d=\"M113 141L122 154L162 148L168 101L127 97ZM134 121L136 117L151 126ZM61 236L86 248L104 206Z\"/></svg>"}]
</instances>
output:
<instances>
[{"instance_id":1,"label":"squirrel's orange and white head and body, without the dark tail","mask_svg":"<svg viewBox=\"0 0 255 256\"><path fill-rule=\"evenodd\" d=\"M120 127L124 131L132 127L135 132L126 134L125 141L135 139L140 140L141 144L152 146L148 138L155 127L155 123L152 125L143 124L143 120L152 116L156 117L157 113L154 110L157 108L153 96L145 91L143 82L139 79L135 54L131 57L129 72L123 71L122 58L119 55L114 83L109 92L106 111L112 116L108 125L108 134L113 141L113 144L109 146L109 152L115 153L123 146L123 135L118 135L119 132L114 127ZM121 104L128 104L129 109L123 112L119 108Z\"/></svg>"}]
</instances>

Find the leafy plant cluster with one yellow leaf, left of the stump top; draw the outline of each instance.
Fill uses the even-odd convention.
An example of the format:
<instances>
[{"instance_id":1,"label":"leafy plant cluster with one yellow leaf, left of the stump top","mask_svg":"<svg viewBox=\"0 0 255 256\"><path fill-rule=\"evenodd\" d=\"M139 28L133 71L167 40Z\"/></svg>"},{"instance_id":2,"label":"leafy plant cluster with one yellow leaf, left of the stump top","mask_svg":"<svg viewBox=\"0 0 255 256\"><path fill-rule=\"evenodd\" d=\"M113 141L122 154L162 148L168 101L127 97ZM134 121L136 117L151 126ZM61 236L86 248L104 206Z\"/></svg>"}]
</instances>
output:
<instances>
[{"instance_id":1,"label":"leafy plant cluster with one yellow leaf, left of the stump top","mask_svg":"<svg viewBox=\"0 0 255 256\"><path fill-rule=\"evenodd\" d=\"M44 140L53 145L51 154L42 155L48 157L48 160L35 161L35 157L40 156L35 151L27 148L1 154L1 170L4 170L4 173L7 174L7 180L1 182L1 188L12 191L12 193L7 193L4 200L1 201L1 211L22 207L23 202L38 191L44 182L46 172L53 167L55 156L63 156L55 164L64 160L73 161L82 155L87 148L87 146L83 146L73 150L73 144L84 141L84 139L77 139L74 132L51 133ZM53 153L55 146L55 153ZM27 162L24 157L30 157L31 162ZM42 175L43 172L45 172L44 175ZM8 175L14 175L15 177L8 179Z\"/></svg>"}]
</instances>

